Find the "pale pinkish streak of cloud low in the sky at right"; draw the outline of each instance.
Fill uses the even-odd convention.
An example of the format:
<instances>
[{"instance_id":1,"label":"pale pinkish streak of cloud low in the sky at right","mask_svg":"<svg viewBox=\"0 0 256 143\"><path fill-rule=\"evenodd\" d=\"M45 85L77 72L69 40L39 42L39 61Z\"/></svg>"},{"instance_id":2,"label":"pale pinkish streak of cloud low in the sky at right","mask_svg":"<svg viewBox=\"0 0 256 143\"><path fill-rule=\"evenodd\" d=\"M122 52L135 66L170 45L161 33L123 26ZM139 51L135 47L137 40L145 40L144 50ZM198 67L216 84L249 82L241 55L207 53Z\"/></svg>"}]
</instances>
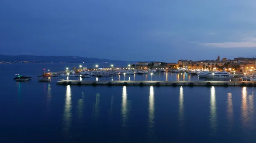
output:
<instances>
[{"instance_id":1,"label":"pale pinkish streak of cloud low in the sky at right","mask_svg":"<svg viewBox=\"0 0 256 143\"><path fill-rule=\"evenodd\" d=\"M241 42L221 42L221 43L199 43L207 47L218 48L256 48L256 38L245 38Z\"/></svg>"}]
</instances>

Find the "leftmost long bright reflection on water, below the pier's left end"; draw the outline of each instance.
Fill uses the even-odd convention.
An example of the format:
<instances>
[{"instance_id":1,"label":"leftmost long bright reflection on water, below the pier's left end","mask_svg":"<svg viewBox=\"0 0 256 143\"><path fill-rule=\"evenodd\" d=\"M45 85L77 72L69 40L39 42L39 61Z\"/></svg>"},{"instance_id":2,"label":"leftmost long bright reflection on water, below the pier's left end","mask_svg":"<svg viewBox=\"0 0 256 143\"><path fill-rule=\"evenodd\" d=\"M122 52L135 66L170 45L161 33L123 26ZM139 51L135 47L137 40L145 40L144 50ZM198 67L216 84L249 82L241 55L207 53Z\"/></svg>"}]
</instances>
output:
<instances>
[{"instance_id":1,"label":"leftmost long bright reflection on water, below the pier's left end","mask_svg":"<svg viewBox=\"0 0 256 143\"><path fill-rule=\"evenodd\" d=\"M64 113L63 113L63 131L66 137L69 137L71 122L72 122L71 88L70 88L70 85L67 85L65 106L64 106Z\"/></svg>"}]
</instances>

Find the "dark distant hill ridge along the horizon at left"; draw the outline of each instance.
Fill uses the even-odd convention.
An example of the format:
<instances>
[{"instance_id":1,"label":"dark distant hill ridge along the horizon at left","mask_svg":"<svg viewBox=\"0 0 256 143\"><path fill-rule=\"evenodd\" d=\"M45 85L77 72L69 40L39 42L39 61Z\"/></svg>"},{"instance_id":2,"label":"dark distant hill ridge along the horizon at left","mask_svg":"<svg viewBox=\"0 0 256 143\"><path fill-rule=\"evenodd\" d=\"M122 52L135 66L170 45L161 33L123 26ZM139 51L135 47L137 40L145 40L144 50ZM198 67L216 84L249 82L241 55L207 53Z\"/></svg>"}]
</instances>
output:
<instances>
[{"instance_id":1,"label":"dark distant hill ridge along the horizon at left","mask_svg":"<svg viewBox=\"0 0 256 143\"><path fill-rule=\"evenodd\" d=\"M98 58L86 58L80 56L32 56L32 55L19 55L19 56L10 56L10 55L0 55L0 61L4 62L15 62L15 61L28 61L28 62L35 62L35 63L42 63L42 62L53 62L53 63L60 63L60 62L125 62L119 60L110 60L110 59L98 59Z\"/></svg>"}]
</instances>

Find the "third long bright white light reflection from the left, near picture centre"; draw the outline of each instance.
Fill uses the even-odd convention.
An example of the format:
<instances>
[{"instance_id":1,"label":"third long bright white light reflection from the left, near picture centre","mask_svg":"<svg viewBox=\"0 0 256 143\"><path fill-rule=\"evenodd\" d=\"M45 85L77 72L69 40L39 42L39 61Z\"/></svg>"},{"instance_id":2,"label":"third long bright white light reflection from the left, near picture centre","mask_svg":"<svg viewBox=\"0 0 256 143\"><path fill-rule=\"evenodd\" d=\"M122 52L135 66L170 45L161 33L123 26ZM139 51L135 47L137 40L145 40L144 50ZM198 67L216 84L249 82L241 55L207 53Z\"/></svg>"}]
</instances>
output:
<instances>
[{"instance_id":1,"label":"third long bright white light reflection from the left, near picture centre","mask_svg":"<svg viewBox=\"0 0 256 143\"><path fill-rule=\"evenodd\" d=\"M154 111L154 87L151 86L149 89L149 98L148 98L148 130L149 135L154 134L154 118L155 118L155 111Z\"/></svg>"}]
</instances>

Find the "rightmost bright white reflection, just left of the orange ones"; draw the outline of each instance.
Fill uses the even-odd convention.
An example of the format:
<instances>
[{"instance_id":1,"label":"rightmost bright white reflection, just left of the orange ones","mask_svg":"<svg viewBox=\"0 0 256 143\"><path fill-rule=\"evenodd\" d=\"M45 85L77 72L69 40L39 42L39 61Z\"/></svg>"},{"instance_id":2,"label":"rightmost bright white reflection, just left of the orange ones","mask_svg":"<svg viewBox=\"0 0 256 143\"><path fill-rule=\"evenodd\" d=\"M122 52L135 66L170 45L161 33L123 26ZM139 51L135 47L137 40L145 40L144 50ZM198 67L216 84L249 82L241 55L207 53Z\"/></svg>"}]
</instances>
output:
<instances>
[{"instance_id":1,"label":"rightmost bright white reflection, just left of the orange ones","mask_svg":"<svg viewBox=\"0 0 256 143\"><path fill-rule=\"evenodd\" d=\"M217 107L216 107L216 94L215 87L211 87L211 96L210 96L210 128L212 133L216 132L217 127Z\"/></svg>"}]
</instances>

